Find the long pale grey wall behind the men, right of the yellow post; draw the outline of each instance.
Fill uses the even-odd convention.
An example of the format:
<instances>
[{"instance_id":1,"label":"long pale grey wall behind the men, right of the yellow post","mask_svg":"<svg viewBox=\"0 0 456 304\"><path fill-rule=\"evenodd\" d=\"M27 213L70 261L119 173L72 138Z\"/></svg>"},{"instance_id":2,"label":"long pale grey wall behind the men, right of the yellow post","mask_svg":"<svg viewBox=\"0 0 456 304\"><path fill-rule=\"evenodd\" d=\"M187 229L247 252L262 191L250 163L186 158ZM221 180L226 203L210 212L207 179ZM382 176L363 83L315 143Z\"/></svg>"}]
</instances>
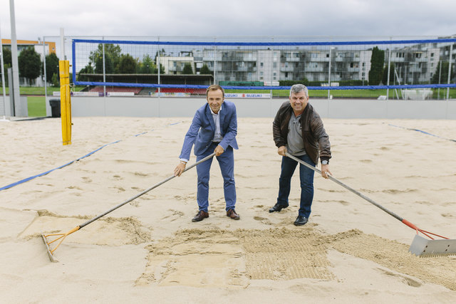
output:
<instances>
[{"instance_id":1,"label":"long pale grey wall behind the men, right of the yellow post","mask_svg":"<svg viewBox=\"0 0 456 304\"><path fill-rule=\"evenodd\" d=\"M274 117L287 99L233 98L238 117ZM204 98L72 97L73 117L192 117ZM321 117L456 119L456 100L310 100Z\"/></svg>"}]
</instances>

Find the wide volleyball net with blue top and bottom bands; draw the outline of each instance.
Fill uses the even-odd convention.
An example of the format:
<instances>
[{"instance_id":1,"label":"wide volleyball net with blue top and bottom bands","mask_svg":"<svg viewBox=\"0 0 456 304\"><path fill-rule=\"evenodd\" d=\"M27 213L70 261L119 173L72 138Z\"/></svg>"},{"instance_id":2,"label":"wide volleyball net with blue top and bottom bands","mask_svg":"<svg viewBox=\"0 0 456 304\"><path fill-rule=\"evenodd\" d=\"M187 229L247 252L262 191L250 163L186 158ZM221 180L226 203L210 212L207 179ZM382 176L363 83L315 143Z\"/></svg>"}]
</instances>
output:
<instances>
[{"instance_id":1,"label":"wide volleyball net with blue top and bottom bands","mask_svg":"<svg viewBox=\"0 0 456 304\"><path fill-rule=\"evenodd\" d=\"M456 38L259 40L73 39L73 83L95 95L202 95L214 83L232 92L276 95L303 83L314 97L329 98L333 91L426 99L437 92L445 98L456 88Z\"/></svg>"}]
</instances>

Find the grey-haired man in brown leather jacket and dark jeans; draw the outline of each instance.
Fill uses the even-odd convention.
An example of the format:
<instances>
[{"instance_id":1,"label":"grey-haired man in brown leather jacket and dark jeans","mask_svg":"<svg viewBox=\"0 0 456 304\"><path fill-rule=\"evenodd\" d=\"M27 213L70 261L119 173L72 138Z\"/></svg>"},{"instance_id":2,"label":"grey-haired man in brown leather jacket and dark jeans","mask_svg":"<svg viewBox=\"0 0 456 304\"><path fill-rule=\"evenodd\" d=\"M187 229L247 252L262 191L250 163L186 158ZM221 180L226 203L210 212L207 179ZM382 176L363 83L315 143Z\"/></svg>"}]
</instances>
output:
<instances>
[{"instance_id":1,"label":"grey-haired man in brown leather jacket and dark jeans","mask_svg":"<svg viewBox=\"0 0 456 304\"><path fill-rule=\"evenodd\" d=\"M309 104L309 93L305 85L293 85L289 101L282 104L272 124L274 142L282 155L279 179L279 196L269 212L281 211L289 206L288 196L291 177L298 162L286 157L285 152L304 162L316 166L321 159L321 176L328 178L331 145L323 127L320 115ZM312 200L314 199L314 170L299 165L301 179L301 204L294 225L301 226L309 221Z\"/></svg>"}]
</instances>

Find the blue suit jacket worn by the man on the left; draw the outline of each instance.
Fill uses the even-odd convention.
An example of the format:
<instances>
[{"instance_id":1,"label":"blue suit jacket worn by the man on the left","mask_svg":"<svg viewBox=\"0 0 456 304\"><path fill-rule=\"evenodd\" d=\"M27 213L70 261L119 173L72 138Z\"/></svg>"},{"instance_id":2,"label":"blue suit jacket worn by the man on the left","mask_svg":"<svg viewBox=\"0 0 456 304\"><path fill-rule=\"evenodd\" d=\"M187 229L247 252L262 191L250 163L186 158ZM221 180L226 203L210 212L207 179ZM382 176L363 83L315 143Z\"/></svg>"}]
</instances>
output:
<instances>
[{"instance_id":1,"label":"blue suit jacket worn by the man on the left","mask_svg":"<svg viewBox=\"0 0 456 304\"><path fill-rule=\"evenodd\" d=\"M237 135L237 115L236 106L234 103L224 101L220 110L220 132L222 133L223 140L219 143L223 150L227 150L228 146L238 149L236 142ZM215 134L214 118L212 118L212 112L209 108L209 104L206 103L195 113L193 117L192 125L185 135L184 145L182 145L182 151L180 152L179 158L190 159L190 151L192 145L195 144L194 152L195 155L201 155L207 151L209 145L211 145Z\"/></svg>"}]
</instances>

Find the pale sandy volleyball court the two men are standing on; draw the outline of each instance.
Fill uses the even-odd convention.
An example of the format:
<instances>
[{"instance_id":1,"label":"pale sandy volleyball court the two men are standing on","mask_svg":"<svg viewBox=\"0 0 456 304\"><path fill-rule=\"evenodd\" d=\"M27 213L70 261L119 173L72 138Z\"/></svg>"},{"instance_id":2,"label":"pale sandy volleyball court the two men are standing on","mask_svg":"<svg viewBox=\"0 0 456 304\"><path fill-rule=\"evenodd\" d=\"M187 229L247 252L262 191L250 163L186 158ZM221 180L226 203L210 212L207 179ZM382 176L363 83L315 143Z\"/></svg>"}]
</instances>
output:
<instances>
[{"instance_id":1,"label":"pale sandy volleyball court the two men are standing on","mask_svg":"<svg viewBox=\"0 0 456 304\"><path fill-rule=\"evenodd\" d=\"M412 256L415 231L330 180L316 175L305 226L292 224L297 174L290 207L269 214L281 162L272 118L238 120L239 221L225 215L214 162L209 219L191 221L191 169L68 236L51 263L41 233L69 231L170 177L190 122L76 117L69 146L61 145L59 119L0 122L0 187L106 145L0 191L1 302L454 302L456 256ZM456 121L323 122L334 177L456 239Z\"/></svg>"}]
</instances>

